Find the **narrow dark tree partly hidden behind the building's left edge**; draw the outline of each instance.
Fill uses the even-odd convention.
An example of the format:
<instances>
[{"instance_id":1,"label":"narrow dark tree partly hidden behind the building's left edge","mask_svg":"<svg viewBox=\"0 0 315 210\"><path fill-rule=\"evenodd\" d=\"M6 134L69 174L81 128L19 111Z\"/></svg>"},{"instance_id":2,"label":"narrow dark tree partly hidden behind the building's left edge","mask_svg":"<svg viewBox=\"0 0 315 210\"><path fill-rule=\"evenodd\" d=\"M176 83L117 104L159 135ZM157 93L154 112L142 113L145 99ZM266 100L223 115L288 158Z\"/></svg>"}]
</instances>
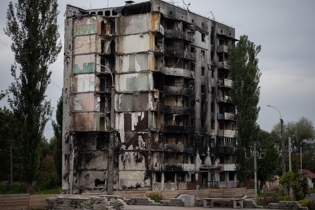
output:
<instances>
[{"instance_id":1,"label":"narrow dark tree partly hidden behind the building's left edge","mask_svg":"<svg viewBox=\"0 0 315 210\"><path fill-rule=\"evenodd\" d=\"M61 177L62 172L62 163L61 163L61 151L62 151L62 138L61 138L61 132L62 132L62 95L59 98L58 104L57 104L57 110L56 110L56 122L52 120L52 127L54 129L55 138L52 138L50 140L50 144L53 147L53 157L54 162L57 170L57 174L59 177ZM60 179L61 181L61 179ZM61 183L60 183L61 184Z\"/></svg>"}]
</instances>

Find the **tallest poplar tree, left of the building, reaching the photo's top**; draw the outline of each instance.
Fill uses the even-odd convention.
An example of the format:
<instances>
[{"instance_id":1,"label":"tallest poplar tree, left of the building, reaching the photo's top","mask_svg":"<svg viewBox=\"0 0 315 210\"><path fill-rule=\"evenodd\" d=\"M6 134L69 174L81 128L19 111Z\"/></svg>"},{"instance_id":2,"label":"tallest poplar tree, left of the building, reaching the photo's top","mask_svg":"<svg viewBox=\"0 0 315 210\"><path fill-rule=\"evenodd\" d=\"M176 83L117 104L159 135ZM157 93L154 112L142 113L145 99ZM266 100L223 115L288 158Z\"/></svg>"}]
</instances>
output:
<instances>
[{"instance_id":1,"label":"tallest poplar tree, left of the building, reaching the photo's top","mask_svg":"<svg viewBox=\"0 0 315 210\"><path fill-rule=\"evenodd\" d=\"M45 95L51 76L48 67L61 50L57 6L57 0L19 0L15 7L10 2L7 12L5 33L15 54L14 82L8 89L13 96L8 101L20 128L16 140L23 145L23 176L31 194L40 166L39 143L52 113Z\"/></svg>"}]
</instances>

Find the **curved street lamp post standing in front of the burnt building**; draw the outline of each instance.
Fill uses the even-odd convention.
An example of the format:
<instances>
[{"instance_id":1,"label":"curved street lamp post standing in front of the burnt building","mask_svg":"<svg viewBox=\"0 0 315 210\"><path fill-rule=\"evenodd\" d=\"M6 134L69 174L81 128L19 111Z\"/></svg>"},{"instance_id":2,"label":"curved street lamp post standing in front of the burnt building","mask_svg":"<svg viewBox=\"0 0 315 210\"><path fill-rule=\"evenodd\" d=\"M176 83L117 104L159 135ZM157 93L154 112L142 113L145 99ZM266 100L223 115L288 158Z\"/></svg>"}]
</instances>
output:
<instances>
[{"instance_id":1,"label":"curved street lamp post standing in front of the burnt building","mask_svg":"<svg viewBox=\"0 0 315 210\"><path fill-rule=\"evenodd\" d=\"M114 77L111 70L102 64L97 64L105 67L112 76L112 89L111 89L111 130L109 136L109 149L108 149L108 173L107 173L107 193L113 194L113 173L114 173L114 137L115 137L115 85Z\"/></svg>"}]
</instances>

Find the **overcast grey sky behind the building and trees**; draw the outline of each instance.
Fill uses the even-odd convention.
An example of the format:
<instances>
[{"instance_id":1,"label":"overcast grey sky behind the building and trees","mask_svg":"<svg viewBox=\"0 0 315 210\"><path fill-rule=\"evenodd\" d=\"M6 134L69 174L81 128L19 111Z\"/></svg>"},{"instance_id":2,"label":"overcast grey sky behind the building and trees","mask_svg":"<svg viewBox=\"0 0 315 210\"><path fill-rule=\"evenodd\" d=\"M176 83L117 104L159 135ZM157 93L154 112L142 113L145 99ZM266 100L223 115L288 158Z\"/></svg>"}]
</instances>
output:
<instances>
[{"instance_id":1,"label":"overcast grey sky behind the building and trees","mask_svg":"<svg viewBox=\"0 0 315 210\"><path fill-rule=\"evenodd\" d=\"M1 0L0 3L2 29L6 27L9 2L9 0ZM315 1L170 0L167 2L188 7L191 12L211 19L214 17L215 21L235 28L235 38L245 34L256 45L262 45L258 55L258 65L262 73L259 102L261 111L258 124L262 129L271 131L273 125L280 119L279 112L267 105L276 107L285 123L297 121L302 116L315 122ZM99 9L124 6L125 1L59 0L58 4L60 11L58 24L63 44L63 14L66 4L84 9ZM1 30L0 90L6 90L13 82L10 73L10 66L14 63L11 43L10 38ZM50 66L50 70L52 83L46 93L54 107L53 119L55 119L56 104L63 86L63 49L57 61ZM4 106L9 107L7 98L0 101L0 107ZM51 122L46 126L45 136L47 139L53 136Z\"/></svg>"}]
</instances>

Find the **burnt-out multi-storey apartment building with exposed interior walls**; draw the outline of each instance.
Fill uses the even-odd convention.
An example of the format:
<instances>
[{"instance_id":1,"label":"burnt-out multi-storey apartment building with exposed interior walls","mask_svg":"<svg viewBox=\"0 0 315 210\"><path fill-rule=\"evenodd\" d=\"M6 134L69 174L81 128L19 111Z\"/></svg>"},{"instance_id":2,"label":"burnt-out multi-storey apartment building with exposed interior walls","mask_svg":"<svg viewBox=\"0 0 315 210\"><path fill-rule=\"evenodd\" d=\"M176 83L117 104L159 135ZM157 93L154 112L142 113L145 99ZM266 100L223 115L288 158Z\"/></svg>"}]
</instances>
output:
<instances>
[{"instance_id":1,"label":"burnt-out multi-storey apartment building with exposed interior walls","mask_svg":"<svg viewBox=\"0 0 315 210\"><path fill-rule=\"evenodd\" d=\"M235 187L234 37L161 0L67 5L62 192Z\"/></svg>"}]
</instances>

